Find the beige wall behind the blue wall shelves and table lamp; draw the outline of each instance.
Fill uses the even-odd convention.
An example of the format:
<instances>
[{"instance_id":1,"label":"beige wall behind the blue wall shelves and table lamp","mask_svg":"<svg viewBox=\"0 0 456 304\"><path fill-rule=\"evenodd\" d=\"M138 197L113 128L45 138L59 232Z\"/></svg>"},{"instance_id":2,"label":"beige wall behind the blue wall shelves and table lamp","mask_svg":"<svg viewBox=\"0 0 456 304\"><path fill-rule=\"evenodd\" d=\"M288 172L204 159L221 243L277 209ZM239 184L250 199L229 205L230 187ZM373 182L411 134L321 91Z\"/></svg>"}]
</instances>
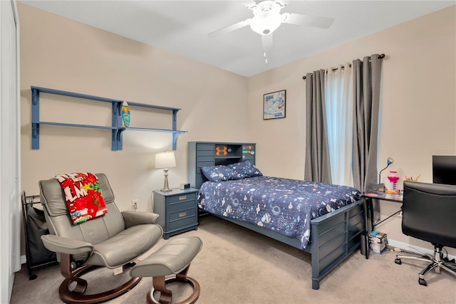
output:
<instances>
[{"instance_id":1,"label":"beige wall behind the blue wall shelves and table lamp","mask_svg":"<svg viewBox=\"0 0 456 304\"><path fill-rule=\"evenodd\" d=\"M121 210L163 186L155 152L172 150L172 135L125 131L123 150L111 151L110 130L41 125L31 150L31 85L181 108L177 167L170 187L187 182L187 142L247 141L247 78L121 36L19 4L21 21L22 187L38 194L38 180L74 171L105 172ZM110 105L66 102L42 95L41 120L110 125ZM96 105L96 106L94 106ZM171 128L170 115L132 108L135 127ZM164 117L165 116L165 117ZM237 117L235 123L233 117Z\"/></svg>"}]
</instances>

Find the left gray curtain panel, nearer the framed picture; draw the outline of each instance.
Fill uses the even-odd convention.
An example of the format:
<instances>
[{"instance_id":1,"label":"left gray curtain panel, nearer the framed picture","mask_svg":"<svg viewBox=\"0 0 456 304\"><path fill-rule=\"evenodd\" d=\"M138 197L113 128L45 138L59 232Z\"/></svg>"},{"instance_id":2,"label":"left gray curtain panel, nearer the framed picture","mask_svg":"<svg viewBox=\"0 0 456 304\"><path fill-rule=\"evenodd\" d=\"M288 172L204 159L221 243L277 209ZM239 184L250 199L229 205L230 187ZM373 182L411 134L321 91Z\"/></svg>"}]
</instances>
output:
<instances>
[{"instance_id":1,"label":"left gray curtain panel, nearer the framed picture","mask_svg":"<svg viewBox=\"0 0 456 304\"><path fill-rule=\"evenodd\" d=\"M331 184L325 113L325 70L306 75L306 161L304 179Z\"/></svg>"}]
</instances>

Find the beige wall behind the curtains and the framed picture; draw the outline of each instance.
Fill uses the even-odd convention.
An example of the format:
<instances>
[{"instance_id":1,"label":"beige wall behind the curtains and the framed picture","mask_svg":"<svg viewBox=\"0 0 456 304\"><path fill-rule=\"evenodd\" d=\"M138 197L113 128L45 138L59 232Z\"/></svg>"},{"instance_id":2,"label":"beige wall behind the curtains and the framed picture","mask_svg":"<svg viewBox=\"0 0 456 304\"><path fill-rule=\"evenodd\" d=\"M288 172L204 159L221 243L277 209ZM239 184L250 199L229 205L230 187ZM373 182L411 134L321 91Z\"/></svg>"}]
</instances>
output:
<instances>
[{"instance_id":1,"label":"beige wall behind the curtains and the framed picture","mask_svg":"<svg viewBox=\"0 0 456 304\"><path fill-rule=\"evenodd\" d=\"M398 170L400 177L421 174L421 182L432 182L432 154L456 154L455 12L456 6L451 6L249 78L249 136L257 142L261 171L304 178L303 75L385 53L378 168L383 169L386 159L393 157L390 168ZM262 120L263 94L284 89L286 118ZM398 207L382 203L383 217ZM378 230L391 240L427 246L401 234L398 217Z\"/></svg>"}]
</instances>

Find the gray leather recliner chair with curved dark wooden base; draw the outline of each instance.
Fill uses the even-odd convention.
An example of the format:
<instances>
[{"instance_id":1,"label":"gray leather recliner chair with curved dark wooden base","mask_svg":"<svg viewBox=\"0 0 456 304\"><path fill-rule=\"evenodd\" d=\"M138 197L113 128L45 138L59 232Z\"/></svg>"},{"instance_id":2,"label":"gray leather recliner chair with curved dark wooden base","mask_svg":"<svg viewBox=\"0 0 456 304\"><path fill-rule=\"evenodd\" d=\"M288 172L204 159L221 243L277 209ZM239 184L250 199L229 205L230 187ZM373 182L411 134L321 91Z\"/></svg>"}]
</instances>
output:
<instances>
[{"instance_id":1,"label":"gray leather recliner chair with curved dark wooden base","mask_svg":"<svg viewBox=\"0 0 456 304\"><path fill-rule=\"evenodd\" d=\"M162 238L162 228L154 224L158 215L150 212L119 211L105 174L95 174L100 182L108 213L85 223L74 225L65 201L65 194L56 179L40 181L48 235L41 236L44 246L57 253L61 274L65 278L59 288L66 303L100 303L137 285L133 277L103 293L85 295L88 282L83 274L100 266L114 269L134 266L137 258L149 251ZM71 286L76 286L70 289Z\"/></svg>"}]
</instances>

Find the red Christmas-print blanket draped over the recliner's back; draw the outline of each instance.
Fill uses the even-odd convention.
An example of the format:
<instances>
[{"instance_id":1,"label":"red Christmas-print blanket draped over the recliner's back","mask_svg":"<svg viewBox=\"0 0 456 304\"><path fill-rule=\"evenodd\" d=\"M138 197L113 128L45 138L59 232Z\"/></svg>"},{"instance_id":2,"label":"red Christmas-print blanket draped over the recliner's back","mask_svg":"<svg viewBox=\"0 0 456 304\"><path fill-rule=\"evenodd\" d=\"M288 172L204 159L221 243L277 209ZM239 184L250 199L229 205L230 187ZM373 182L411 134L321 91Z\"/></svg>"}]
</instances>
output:
<instances>
[{"instance_id":1,"label":"red Christmas-print blanket draped over the recliner's back","mask_svg":"<svg viewBox=\"0 0 456 304\"><path fill-rule=\"evenodd\" d=\"M65 193L66 206L73 224L81 224L108 212L95 174L76 172L58 174L57 179Z\"/></svg>"}]
</instances>

